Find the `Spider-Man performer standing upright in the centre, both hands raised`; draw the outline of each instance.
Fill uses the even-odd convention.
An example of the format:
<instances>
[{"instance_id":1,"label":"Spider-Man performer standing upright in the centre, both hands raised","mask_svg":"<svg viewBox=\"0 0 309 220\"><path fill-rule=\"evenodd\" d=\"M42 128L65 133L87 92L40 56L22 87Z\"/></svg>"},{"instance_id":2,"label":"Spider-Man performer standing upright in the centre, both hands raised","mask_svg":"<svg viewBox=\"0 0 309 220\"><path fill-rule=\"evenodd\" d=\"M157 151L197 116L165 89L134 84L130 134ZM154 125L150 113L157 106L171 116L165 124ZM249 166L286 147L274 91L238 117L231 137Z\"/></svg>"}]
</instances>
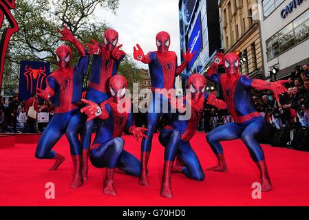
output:
<instances>
[{"instance_id":1,"label":"Spider-Man performer standing upright in the centre, both hands raised","mask_svg":"<svg viewBox=\"0 0 309 220\"><path fill-rule=\"evenodd\" d=\"M178 66L177 55L175 52L169 51L170 44L171 37L169 36L169 33L159 32L156 35L156 45L158 47L156 52L149 52L145 55L140 45L136 45L138 47L137 49L134 47L134 59L149 65L152 91L152 98L149 103L147 114L148 131L146 132L146 135L148 138L142 139L141 146L142 153L139 183L142 186L149 186L147 164L151 151L153 133L156 130L160 117L168 114L160 111L160 106L162 105L163 100L169 99L169 97L164 96L164 91L175 89L175 77L184 71L195 54L189 53L189 50L187 51L187 54L183 53L184 62Z\"/></svg>"}]
</instances>

